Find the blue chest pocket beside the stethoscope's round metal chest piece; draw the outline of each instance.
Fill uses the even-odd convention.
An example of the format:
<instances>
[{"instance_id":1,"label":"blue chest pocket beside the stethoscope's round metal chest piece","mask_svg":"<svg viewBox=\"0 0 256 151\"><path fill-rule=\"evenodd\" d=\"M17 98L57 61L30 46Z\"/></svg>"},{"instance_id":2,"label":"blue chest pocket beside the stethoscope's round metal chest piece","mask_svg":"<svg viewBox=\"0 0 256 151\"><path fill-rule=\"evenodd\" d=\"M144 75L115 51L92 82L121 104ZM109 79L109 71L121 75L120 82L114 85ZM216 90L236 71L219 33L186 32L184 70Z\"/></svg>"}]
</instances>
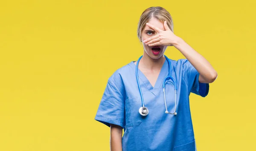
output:
<instances>
[{"instance_id":1,"label":"blue chest pocket beside the stethoscope's round metal chest piece","mask_svg":"<svg viewBox=\"0 0 256 151\"><path fill-rule=\"evenodd\" d=\"M139 108L142 106L140 97L125 100L126 128L139 126L142 122Z\"/></svg>"}]
</instances>

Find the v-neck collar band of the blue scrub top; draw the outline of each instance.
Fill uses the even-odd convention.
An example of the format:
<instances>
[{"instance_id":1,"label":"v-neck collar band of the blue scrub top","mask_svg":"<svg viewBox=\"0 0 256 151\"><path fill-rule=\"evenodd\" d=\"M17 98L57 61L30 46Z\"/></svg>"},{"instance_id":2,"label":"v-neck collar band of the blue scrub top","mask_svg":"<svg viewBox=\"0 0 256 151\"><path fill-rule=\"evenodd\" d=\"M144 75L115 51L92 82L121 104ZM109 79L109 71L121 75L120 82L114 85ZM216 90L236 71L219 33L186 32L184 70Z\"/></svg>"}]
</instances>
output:
<instances>
[{"instance_id":1,"label":"v-neck collar band of the blue scrub top","mask_svg":"<svg viewBox=\"0 0 256 151\"><path fill-rule=\"evenodd\" d=\"M129 65L132 67L132 69L134 70L134 74L135 74L135 72L136 72L136 64L134 64L134 62L135 62L135 61L131 61L131 63L130 63ZM163 79L167 76L168 71L169 71L168 62L167 62L167 60L165 59L165 61L164 61L164 63L163 63L163 66L162 66L162 68L161 68L161 70L160 70L160 73L159 73L159 75L158 75L158 77L157 77L157 81L156 81L156 83L155 83L155 85L154 85L154 87L153 87L153 86L151 85L151 83L149 82L148 78L146 78L146 76L140 71L140 69L138 69L138 76L139 76L139 79L140 79L141 81L143 81L143 83L140 82L140 86L141 86L142 84L144 84L144 85L148 88L148 90L149 90L151 93L153 93L154 96L156 96L156 94L157 94L157 92L158 92L160 86L163 85Z\"/></svg>"}]
</instances>

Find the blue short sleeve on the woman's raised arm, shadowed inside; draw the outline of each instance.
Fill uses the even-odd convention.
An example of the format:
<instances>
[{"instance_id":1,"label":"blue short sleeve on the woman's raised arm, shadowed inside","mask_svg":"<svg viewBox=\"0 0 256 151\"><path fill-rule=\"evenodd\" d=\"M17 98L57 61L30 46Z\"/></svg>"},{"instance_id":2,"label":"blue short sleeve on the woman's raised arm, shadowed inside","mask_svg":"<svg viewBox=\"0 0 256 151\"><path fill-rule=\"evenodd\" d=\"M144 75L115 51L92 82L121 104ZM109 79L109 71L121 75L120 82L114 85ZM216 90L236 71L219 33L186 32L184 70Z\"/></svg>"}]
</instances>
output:
<instances>
[{"instance_id":1,"label":"blue short sleeve on the woman's raised arm, shadowed inside","mask_svg":"<svg viewBox=\"0 0 256 151\"><path fill-rule=\"evenodd\" d=\"M199 73L192 66L192 64L185 60L183 63L183 77L188 86L189 92L195 93L199 96L206 97L209 93L209 84L208 83L200 83L199 82Z\"/></svg>"}]
</instances>

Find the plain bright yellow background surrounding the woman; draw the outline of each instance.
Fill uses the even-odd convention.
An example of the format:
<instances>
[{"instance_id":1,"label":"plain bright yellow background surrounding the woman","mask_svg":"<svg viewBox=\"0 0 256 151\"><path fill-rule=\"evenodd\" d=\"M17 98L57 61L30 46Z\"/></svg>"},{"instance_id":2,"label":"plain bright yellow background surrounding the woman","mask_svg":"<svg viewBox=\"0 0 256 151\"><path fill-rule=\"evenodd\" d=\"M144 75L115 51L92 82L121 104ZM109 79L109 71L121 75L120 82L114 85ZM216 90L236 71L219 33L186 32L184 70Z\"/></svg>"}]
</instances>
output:
<instances>
[{"instance_id":1,"label":"plain bright yellow background surrounding the woman","mask_svg":"<svg viewBox=\"0 0 256 151\"><path fill-rule=\"evenodd\" d=\"M109 151L94 116L108 78L142 55L150 6L218 72L190 96L198 151L256 151L255 0L1 0L0 151Z\"/></svg>"}]
</instances>

